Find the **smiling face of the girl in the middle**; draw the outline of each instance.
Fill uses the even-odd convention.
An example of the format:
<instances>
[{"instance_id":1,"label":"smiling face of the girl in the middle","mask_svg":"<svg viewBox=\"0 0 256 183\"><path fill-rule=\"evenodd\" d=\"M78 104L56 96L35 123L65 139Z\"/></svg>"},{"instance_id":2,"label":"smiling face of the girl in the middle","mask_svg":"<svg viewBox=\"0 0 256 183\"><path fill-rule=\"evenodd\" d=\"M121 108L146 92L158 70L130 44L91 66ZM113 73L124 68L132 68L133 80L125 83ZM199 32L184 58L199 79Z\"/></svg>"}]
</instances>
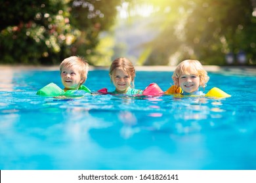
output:
<instances>
[{"instance_id":1,"label":"smiling face of the girl in the middle","mask_svg":"<svg viewBox=\"0 0 256 183\"><path fill-rule=\"evenodd\" d=\"M119 93L126 93L127 88L131 85L131 77L125 71L121 69L115 69L112 75L110 75L116 91Z\"/></svg>"}]
</instances>

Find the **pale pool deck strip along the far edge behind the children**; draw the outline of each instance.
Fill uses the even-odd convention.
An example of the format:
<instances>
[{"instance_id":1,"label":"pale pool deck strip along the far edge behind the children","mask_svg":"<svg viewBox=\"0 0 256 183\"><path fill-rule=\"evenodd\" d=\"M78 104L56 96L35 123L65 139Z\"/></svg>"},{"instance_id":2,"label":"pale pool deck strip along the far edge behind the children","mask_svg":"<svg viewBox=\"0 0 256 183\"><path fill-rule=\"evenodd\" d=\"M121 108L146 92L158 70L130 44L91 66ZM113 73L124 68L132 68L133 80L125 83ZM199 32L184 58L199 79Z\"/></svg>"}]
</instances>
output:
<instances>
[{"instance_id":1,"label":"pale pool deck strip along the far edge behind the children","mask_svg":"<svg viewBox=\"0 0 256 183\"><path fill-rule=\"evenodd\" d=\"M208 72L218 73L234 73L238 75L253 75L256 76L256 65L203 65ZM136 71L169 71L173 72L176 66L135 66ZM39 70L39 71L58 71L59 66L34 66L34 65L0 65L1 71L24 71L24 70ZM90 66L89 70L108 70L108 66Z\"/></svg>"}]
</instances>

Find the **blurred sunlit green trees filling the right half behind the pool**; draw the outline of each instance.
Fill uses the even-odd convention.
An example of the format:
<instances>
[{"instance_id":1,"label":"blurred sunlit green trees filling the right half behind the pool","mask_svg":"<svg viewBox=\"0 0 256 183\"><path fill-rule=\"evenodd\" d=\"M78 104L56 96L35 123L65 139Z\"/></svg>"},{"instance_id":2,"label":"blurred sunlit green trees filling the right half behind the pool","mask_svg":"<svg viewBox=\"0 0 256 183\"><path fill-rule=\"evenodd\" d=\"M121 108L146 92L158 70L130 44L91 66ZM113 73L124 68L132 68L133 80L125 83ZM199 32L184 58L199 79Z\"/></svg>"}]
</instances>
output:
<instances>
[{"instance_id":1,"label":"blurred sunlit green trees filling the right half behind the pool","mask_svg":"<svg viewBox=\"0 0 256 183\"><path fill-rule=\"evenodd\" d=\"M140 1L154 5L151 17L160 34L148 42L152 49L144 64L175 65L183 59L224 65L228 52L244 50L255 64L255 16L247 0ZM175 61L172 58L175 58Z\"/></svg>"}]
</instances>

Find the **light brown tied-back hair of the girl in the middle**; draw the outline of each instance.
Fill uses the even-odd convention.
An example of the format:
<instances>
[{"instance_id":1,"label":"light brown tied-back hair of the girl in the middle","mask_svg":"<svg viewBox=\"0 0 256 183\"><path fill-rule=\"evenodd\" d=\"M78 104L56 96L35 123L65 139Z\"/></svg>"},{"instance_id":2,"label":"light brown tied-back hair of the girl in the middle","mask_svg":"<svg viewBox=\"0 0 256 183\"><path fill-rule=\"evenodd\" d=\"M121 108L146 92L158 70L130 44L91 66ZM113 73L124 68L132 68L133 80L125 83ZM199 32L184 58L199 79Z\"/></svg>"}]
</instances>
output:
<instances>
[{"instance_id":1,"label":"light brown tied-back hair of the girl in the middle","mask_svg":"<svg viewBox=\"0 0 256 183\"><path fill-rule=\"evenodd\" d=\"M121 69L128 73L129 77L131 77L131 87L134 88L135 68L133 67L133 63L127 58L117 58L110 66L110 75L112 75L115 69ZM111 77L110 79L112 81Z\"/></svg>"}]
</instances>

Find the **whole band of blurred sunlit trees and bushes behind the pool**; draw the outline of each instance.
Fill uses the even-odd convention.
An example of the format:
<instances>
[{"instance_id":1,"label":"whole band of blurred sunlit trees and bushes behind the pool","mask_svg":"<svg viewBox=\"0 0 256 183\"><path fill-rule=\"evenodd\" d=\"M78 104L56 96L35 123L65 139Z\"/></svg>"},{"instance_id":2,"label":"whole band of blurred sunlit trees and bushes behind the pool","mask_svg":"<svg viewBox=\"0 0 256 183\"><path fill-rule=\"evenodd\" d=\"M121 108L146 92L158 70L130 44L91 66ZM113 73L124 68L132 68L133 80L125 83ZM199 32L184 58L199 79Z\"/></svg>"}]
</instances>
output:
<instances>
[{"instance_id":1,"label":"whole band of blurred sunlit trees and bushes behind the pool","mask_svg":"<svg viewBox=\"0 0 256 183\"><path fill-rule=\"evenodd\" d=\"M0 0L0 63L256 64L256 0Z\"/></svg>"}]
</instances>

